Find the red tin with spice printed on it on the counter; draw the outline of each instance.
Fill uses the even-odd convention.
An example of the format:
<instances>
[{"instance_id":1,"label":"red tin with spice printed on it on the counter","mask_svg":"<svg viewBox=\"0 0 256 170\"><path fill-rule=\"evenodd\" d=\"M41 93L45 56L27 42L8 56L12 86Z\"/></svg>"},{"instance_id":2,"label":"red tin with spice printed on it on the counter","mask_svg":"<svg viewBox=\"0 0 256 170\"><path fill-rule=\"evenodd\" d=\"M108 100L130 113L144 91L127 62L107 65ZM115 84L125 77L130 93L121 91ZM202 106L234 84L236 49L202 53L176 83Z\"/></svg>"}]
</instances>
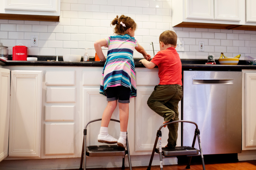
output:
<instances>
[{"instance_id":1,"label":"red tin with spice printed on it on the counter","mask_svg":"<svg viewBox=\"0 0 256 170\"><path fill-rule=\"evenodd\" d=\"M12 60L27 61L28 47L18 44L12 47Z\"/></svg>"}]
</instances>

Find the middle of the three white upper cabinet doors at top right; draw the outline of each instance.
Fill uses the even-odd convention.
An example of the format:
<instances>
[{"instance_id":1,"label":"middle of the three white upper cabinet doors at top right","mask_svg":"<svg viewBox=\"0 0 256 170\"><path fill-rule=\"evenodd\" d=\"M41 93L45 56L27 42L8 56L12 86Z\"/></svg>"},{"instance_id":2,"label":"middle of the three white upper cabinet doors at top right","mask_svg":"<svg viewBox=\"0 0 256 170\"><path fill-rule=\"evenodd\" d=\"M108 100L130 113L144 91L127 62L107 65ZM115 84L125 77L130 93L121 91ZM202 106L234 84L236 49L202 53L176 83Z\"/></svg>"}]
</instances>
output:
<instances>
[{"instance_id":1,"label":"middle of the three white upper cabinet doors at top right","mask_svg":"<svg viewBox=\"0 0 256 170\"><path fill-rule=\"evenodd\" d=\"M241 5L243 0L214 0L214 19L225 21L241 21Z\"/></svg>"}]
</instances>

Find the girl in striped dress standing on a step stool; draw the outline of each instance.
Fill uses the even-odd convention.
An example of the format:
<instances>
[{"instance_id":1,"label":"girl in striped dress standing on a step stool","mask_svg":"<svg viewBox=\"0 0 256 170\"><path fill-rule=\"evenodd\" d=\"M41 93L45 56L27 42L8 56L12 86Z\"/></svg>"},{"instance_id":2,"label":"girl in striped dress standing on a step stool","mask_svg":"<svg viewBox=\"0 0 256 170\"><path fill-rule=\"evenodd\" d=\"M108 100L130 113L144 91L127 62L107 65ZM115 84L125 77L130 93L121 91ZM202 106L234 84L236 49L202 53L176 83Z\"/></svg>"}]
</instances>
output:
<instances>
[{"instance_id":1,"label":"girl in striped dress standing on a step stool","mask_svg":"<svg viewBox=\"0 0 256 170\"><path fill-rule=\"evenodd\" d=\"M116 16L111 25L115 26L114 34L116 35L94 43L94 48L100 61L106 61L102 73L100 93L107 96L108 101L108 105L102 115L98 142L117 143L118 146L125 148L130 97L136 97L137 95L133 50L135 48L147 60L151 56L134 39L137 25L133 19L124 15L121 15L120 18ZM102 46L108 47L107 59L102 52ZM117 100L119 102L121 128L118 140L108 134L108 124L117 106Z\"/></svg>"}]
</instances>

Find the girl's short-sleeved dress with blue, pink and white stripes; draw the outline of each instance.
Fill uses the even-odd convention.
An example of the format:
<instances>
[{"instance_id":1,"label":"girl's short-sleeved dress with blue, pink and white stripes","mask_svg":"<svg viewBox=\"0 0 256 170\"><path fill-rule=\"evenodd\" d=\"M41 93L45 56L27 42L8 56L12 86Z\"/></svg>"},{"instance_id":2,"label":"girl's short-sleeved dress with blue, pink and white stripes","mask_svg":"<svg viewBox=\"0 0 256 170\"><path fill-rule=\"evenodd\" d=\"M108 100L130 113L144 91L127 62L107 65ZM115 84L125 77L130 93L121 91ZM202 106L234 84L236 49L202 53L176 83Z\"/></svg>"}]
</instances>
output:
<instances>
[{"instance_id":1,"label":"girl's short-sleeved dress with blue, pink and white stripes","mask_svg":"<svg viewBox=\"0 0 256 170\"><path fill-rule=\"evenodd\" d=\"M131 89L130 97L137 96L133 50L138 47L134 37L116 35L105 38L108 47L107 60L103 68L100 93L106 96L108 87L125 86Z\"/></svg>"}]
</instances>

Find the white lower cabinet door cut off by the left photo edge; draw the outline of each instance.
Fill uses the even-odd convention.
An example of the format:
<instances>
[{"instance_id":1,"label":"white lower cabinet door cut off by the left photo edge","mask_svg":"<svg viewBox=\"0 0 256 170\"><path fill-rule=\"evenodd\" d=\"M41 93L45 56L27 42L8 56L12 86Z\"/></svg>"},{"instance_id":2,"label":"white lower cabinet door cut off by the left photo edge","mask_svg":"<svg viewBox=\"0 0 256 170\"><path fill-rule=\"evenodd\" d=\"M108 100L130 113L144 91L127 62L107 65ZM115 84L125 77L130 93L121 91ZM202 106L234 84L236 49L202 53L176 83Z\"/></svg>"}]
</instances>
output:
<instances>
[{"instance_id":1,"label":"white lower cabinet door cut off by the left photo edge","mask_svg":"<svg viewBox=\"0 0 256 170\"><path fill-rule=\"evenodd\" d=\"M10 70L0 68L0 162L8 156Z\"/></svg>"}]
</instances>

